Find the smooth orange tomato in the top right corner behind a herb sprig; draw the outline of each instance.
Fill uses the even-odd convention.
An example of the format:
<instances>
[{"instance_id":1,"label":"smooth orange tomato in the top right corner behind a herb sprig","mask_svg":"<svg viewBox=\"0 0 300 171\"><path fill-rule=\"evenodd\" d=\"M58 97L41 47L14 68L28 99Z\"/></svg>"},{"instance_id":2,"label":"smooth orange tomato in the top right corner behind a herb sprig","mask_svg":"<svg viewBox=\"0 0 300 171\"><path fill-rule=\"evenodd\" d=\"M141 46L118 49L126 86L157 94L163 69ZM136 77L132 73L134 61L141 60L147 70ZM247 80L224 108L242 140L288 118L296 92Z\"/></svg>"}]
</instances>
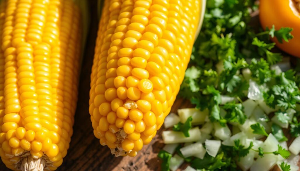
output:
<instances>
[{"instance_id":1,"label":"smooth orange tomato in the top right corner behind a herb sprig","mask_svg":"<svg viewBox=\"0 0 300 171\"><path fill-rule=\"evenodd\" d=\"M293 0L260 0L259 19L264 29L266 26L272 28L272 25L276 30L281 27L293 28L291 34L294 38L289 42L279 43L276 38L272 38L272 41L281 50L300 57L300 12Z\"/></svg>"}]
</instances>

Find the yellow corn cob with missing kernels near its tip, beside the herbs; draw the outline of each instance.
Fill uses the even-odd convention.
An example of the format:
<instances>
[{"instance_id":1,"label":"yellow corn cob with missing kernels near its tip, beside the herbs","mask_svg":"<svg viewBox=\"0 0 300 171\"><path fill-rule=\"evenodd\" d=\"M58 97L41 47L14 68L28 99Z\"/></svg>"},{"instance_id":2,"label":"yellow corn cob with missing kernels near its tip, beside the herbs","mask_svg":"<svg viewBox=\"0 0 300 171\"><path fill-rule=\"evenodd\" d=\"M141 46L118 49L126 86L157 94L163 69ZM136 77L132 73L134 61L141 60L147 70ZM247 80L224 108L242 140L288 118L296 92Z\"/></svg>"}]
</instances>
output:
<instances>
[{"instance_id":1,"label":"yellow corn cob with missing kernels near its tip, beside the herbs","mask_svg":"<svg viewBox=\"0 0 300 171\"><path fill-rule=\"evenodd\" d=\"M115 156L150 143L179 92L199 0L105 0L91 72L95 137Z\"/></svg>"}]
</instances>

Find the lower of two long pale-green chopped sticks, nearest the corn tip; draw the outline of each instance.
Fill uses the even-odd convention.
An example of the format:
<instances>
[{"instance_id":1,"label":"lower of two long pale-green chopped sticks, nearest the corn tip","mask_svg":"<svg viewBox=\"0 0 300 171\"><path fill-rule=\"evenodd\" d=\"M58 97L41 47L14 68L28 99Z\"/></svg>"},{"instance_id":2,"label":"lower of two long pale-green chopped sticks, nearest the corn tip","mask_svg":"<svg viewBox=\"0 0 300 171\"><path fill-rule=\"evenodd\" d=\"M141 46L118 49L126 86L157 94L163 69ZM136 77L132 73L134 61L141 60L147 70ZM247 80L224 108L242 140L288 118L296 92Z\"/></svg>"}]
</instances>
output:
<instances>
[{"instance_id":1,"label":"lower of two long pale-green chopped sticks, nearest the corn tip","mask_svg":"<svg viewBox=\"0 0 300 171\"><path fill-rule=\"evenodd\" d=\"M190 137L185 137L182 132L178 131L163 131L163 140L165 144L186 143L199 141L201 132L198 127L189 130Z\"/></svg>"}]
</instances>

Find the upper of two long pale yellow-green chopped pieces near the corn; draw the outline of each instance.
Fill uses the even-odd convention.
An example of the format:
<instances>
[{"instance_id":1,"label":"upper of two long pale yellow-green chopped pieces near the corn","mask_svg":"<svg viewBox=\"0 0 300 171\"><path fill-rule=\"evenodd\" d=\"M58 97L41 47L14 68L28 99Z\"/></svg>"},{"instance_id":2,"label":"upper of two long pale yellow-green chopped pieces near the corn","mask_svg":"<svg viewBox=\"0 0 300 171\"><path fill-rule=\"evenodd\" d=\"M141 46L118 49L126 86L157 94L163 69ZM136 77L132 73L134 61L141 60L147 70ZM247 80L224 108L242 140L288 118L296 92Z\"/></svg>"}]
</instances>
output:
<instances>
[{"instance_id":1,"label":"upper of two long pale yellow-green chopped pieces near the corn","mask_svg":"<svg viewBox=\"0 0 300 171\"><path fill-rule=\"evenodd\" d=\"M192 116L192 124L202 124L205 122L205 119L208 117L208 109L204 111L199 111L195 108L185 108L185 109L178 109L178 115L180 117L180 122L184 123L187 121L187 118Z\"/></svg>"}]
</instances>

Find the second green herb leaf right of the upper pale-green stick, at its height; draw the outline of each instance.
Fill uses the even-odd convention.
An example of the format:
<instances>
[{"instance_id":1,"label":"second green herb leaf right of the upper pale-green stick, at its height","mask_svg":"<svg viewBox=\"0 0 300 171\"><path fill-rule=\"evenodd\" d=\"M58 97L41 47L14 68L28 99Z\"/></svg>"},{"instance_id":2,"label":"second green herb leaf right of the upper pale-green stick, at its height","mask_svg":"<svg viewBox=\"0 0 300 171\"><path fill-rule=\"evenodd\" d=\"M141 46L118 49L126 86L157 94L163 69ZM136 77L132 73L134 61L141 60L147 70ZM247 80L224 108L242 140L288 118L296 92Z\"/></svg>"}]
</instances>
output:
<instances>
[{"instance_id":1,"label":"second green herb leaf right of the upper pale-green stick, at its height","mask_svg":"<svg viewBox=\"0 0 300 171\"><path fill-rule=\"evenodd\" d=\"M241 103L235 104L235 102L226 103L223 107L227 111L225 119L230 122L238 122L244 124L247 116L243 112L243 106Z\"/></svg>"}]
</instances>

